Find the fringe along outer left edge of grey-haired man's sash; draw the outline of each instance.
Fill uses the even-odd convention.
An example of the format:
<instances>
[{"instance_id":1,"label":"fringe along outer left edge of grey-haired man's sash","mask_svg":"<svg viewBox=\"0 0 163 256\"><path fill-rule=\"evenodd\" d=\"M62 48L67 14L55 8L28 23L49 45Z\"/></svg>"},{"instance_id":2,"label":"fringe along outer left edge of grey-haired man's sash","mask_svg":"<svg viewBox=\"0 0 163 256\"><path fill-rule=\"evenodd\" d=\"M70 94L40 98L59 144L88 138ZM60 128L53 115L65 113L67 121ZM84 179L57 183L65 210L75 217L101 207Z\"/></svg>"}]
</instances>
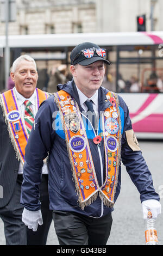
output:
<instances>
[{"instance_id":1,"label":"fringe along outer left edge of grey-haired man's sash","mask_svg":"<svg viewBox=\"0 0 163 256\"><path fill-rule=\"evenodd\" d=\"M17 149L17 146L16 146L16 143L15 143L15 139L12 136L12 132L11 132L11 128L10 128L10 125L9 125L9 121L7 120L7 117L6 117L6 114L5 114L5 107L4 107L4 104L3 104L2 95L0 95L0 105L2 107L2 112L3 112L3 117L4 117L5 124L8 127L10 141L11 141L11 144L12 144L14 150L15 150L15 153L16 153L16 158L17 158L18 161L21 161L21 163L23 164L22 158L20 156L20 153L19 153L19 151Z\"/></svg>"}]
</instances>

